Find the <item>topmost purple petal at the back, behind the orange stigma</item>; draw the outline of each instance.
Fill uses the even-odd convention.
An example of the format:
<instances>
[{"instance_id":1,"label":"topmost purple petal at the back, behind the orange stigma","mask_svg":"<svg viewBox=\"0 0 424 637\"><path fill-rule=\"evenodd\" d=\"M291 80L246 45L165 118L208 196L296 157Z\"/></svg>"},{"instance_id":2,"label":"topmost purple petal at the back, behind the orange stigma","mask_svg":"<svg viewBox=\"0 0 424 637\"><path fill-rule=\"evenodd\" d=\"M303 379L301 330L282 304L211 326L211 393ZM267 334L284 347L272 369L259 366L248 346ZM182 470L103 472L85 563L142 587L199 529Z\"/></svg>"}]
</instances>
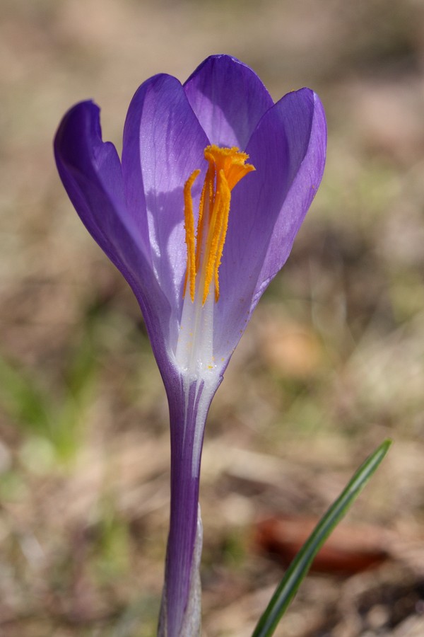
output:
<instances>
[{"instance_id":1,"label":"topmost purple petal at the back, behind the orange stigma","mask_svg":"<svg viewBox=\"0 0 424 637\"><path fill-rule=\"evenodd\" d=\"M244 150L273 101L259 77L240 60L213 55L184 84L211 144Z\"/></svg>"}]
</instances>

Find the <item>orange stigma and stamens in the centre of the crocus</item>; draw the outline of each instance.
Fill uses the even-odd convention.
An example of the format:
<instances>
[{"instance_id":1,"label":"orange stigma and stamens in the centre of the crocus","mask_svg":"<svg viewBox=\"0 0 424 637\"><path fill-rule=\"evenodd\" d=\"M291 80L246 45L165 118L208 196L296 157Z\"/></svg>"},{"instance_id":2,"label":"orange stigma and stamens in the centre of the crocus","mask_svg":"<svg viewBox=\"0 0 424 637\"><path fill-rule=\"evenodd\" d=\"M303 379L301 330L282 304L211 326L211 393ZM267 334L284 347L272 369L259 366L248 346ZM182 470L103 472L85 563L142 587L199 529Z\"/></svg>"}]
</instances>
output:
<instances>
[{"instance_id":1,"label":"orange stigma and stamens in the centre of the crocus","mask_svg":"<svg viewBox=\"0 0 424 637\"><path fill-rule=\"evenodd\" d=\"M240 152L235 147L208 146L204 155L208 161L208 169L201 191L196 234L194 232L192 186L200 174L199 168L193 171L184 184L187 270L183 297L185 297L188 287L192 302L194 302L196 294L201 294L202 305L208 298L212 282L215 287L215 301L219 299L218 271L227 234L232 188L247 173L254 171L254 166L245 163L249 159L249 155Z\"/></svg>"}]
</instances>

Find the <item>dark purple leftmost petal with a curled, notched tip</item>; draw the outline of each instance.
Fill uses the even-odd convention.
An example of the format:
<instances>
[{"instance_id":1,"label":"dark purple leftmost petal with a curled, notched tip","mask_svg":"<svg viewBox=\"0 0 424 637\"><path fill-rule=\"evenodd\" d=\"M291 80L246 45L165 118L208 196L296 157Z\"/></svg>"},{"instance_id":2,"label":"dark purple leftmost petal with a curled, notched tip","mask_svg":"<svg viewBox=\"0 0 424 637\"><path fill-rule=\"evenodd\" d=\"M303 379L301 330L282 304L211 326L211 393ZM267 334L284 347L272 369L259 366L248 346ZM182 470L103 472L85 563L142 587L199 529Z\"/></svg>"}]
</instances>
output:
<instances>
[{"instance_id":1,"label":"dark purple leftmost petal with a curled, notched tip","mask_svg":"<svg viewBox=\"0 0 424 637\"><path fill-rule=\"evenodd\" d=\"M83 224L136 294L164 373L170 304L153 277L142 224L127 211L119 157L113 144L102 142L99 115L92 102L66 113L54 139L57 168Z\"/></svg>"}]
</instances>

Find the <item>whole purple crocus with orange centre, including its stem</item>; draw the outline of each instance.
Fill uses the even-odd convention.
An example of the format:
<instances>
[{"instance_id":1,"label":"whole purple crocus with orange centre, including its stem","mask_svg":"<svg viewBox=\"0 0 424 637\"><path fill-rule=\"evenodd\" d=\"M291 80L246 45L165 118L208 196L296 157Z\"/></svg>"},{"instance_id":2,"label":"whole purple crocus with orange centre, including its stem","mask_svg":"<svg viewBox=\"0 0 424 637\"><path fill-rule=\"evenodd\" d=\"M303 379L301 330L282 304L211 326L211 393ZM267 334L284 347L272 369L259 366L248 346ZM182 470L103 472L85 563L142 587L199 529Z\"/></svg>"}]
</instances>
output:
<instances>
[{"instance_id":1,"label":"whole purple crocus with orange centre, including its stem","mask_svg":"<svg viewBox=\"0 0 424 637\"><path fill-rule=\"evenodd\" d=\"M159 633L200 630L199 470L206 415L252 311L288 258L324 170L309 88L277 103L256 74L208 57L160 74L129 106L122 161L99 108L78 103L54 142L83 224L141 307L170 408L171 511Z\"/></svg>"}]
</instances>

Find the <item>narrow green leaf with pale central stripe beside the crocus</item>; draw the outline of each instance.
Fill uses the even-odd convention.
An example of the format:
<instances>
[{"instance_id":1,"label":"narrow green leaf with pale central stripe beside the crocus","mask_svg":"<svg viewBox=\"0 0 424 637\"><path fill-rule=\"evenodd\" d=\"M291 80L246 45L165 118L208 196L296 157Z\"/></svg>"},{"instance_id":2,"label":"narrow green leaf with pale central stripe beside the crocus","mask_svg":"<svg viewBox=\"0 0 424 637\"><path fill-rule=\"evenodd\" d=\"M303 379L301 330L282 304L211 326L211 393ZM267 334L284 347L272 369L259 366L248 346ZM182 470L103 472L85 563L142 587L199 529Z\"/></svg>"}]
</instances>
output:
<instances>
[{"instance_id":1,"label":"narrow green leaf with pale central stripe beside the crocus","mask_svg":"<svg viewBox=\"0 0 424 637\"><path fill-rule=\"evenodd\" d=\"M346 488L338 496L337 500L325 513L315 527L314 531L300 549L298 555L285 572L283 580L276 588L264 614L259 619L252 637L270 637L275 631L278 622L288 609L288 605L295 596L303 578L307 575L314 557L331 534L338 522L346 515L358 495L365 487L367 481L378 468L380 462L387 454L391 440L384 440L382 444L359 467Z\"/></svg>"}]
</instances>

